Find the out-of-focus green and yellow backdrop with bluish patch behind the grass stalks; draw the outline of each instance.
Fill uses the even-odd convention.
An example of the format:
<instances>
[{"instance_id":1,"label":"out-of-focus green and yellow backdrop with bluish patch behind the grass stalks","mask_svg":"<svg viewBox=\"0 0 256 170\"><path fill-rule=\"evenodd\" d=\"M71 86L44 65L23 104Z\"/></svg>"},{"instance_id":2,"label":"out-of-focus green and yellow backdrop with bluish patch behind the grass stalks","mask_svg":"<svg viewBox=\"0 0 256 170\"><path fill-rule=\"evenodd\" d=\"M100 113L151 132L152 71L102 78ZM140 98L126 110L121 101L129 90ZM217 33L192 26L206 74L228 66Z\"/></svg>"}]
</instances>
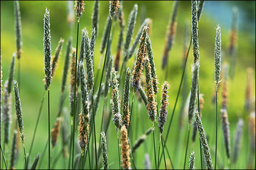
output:
<instances>
[{"instance_id":1,"label":"out-of-focus green and yellow backdrop with bluish patch behind the grass stalks","mask_svg":"<svg viewBox=\"0 0 256 170\"><path fill-rule=\"evenodd\" d=\"M92 30L92 10L93 1L86 1L85 11L80 19L80 28L87 28L89 35ZM23 108L23 118L26 135L26 149L27 152L30 147L32 134L40 106L40 100L42 93L44 92L44 49L43 49L43 18L46 7L50 9L50 22L51 22L51 42L52 42L52 55L54 54L57 43L62 37L65 39L65 43L62 48L62 55L56 69L55 75L52 79L51 84L51 125L55 121L55 117L58 112L59 96L60 96L60 80L62 76L63 61L65 58L66 42L69 36L75 37L76 24L70 29L67 22L67 2L66 1L20 1L20 12L22 18L22 40L23 40L23 54L20 59L21 64L21 85L20 85L20 98ZM166 27L172 11L172 1L124 1L124 20L127 23L127 17L130 11L133 9L134 4L138 4L138 15L137 22L133 37L135 37L137 30L139 29L144 17L152 18L153 27L151 34L152 48L157 68L157 75L160 79L160 83L163 82L164 72L161 69L162 54L165 43ZM227 56L227 47L229 43L230 27L232 20L232 8L237 6L239 9L239 34L238 34L238 51L237 51L237 67L235 71L234 79L229 82L229 106L228 115L230 122L230 135L231 144L235 126L239 116L244 114L245 105L245 89L246 89L246 68L252 67L255 72L255 1L206 1L204 10L199 23L199 45L200 45L200 93L204 94L204 109L203 109L203 125L207 135L209 135L209 145L211 149L212 159L214 159L214 148L215 145L215 105L211 103L212 93L215 90L214 83L214 44L216 36L216 27L218 24L221 26L222 36L222 57L223 60L229 61ZM145 12L143 12L145 11ZM95 72L98 67L100 53L99 47L101 44L101 36L105 25L106 17L109 15L109 2L100 1L100 17L99 17L99 34L95 44ZM190 1L181 1L178 9L178 26L175 44L172 51L169 53L169 73L167 81L170 84L169 90L169 107L167 125L170 118L170 113L174 106L176 99L180 78L182 74L182 57L183 57L183 33L185 22L189 23L191 18L191 7ZM119 26L116 25L115 34L112 42L112 55L115 57L117 48L117 39ZM125 27L126 32L126 27ZM70 35L71 34L71 35ZM79 37L81 31L79 32ZM75 47L75 38L73 38L72 46ZM9 65L12 57L12 53L16 51L15 46L15 31L14 31L14 13L13 13L13 1L1 1L1 55L2 55L2 67L3 67L3 80L5 81L8 77ZM132 69L134 62L134 56L129 61L129 66ZM191 64L192 64L191 51L187 63L187 80L190 88L190 77L191 77ZM17 68L17 62L16 68ZM254 74L253 74L254 75ZM68 76L69 77L69 76ZM17 78L17 72L15 70L15 78ZM69 80L68 80L69 82ZM67 88L68 89L68 85ZM255 96L255 78L253 77L253 92L252 96ZM120 94L123 91L120 90ZM158 94L158 102L160 103L161 94ZM13 98L14 99L14 98ZM135 99L136 103L137 99ZM221 102L221 96L219 98ZM220 103L219 102L219 103ZM106 103L110 109L111 105L108 101ZM185 139L187 133L187 125L184 124L183 129L178 129L179 124L179 113L180 113L181 98L179 99L177 110L174 116L174 122L170 130L169 139L167 142L167 148L170 152L170 156L173 158L175 168L182 168L185 154ZM66 98L65 106L69 110L69 101ZM98 113L96 115L96 133L97 142L99 137L101 113L102 113L103 99L100 101ZM12 119L15 121L14 103L12 107ZM32 151L32 158L37 153L41 153L44 149L45 142L47 141L48 132L48 114L47 114L47 102L44 103L42 108L42 114L38 125L38 131L34 148ZM14 124L12 124L13 127ZM219 124L220 125L220 124ZM147 113L143 104L138 106L134 105L134 113L132 118L132 126L136 127L133 129L133 137L131 143L134 143L136 138L140 136L147 128L151 127L151 122L147 119ZM141 127L140 127L141 126ZM135 133L136 132L136 133ZM165 135L166 130L163 135ZM237 168L246 168L248 163L248 137L247 131L244 131L244 138L242 140L241 155ZM180 135L180 142L177 145ZM110 168L118 168L118 157L117 157L117 144L116 144L116 133L113 123L110 124L110 129L107 134L108 141L108 154L109 163L114 163ZM158 136L158 132L157 135ZM2 135L3 137L3 135ZM156 137L157 138L157 137ZM225 160L226 155L224 153L224 144L221 127L219 126L219 145L218 151L220 153L220 160ZM188 153L192 150L196 153L196 167L200 167L200 152L199 144L195 143L194 149L189 147ZM91 142L92 143L92 142ZM152 161L152 168L154 167L154 151L153 151L152 135L148 136L146 140L146 147L140 147L137 153L134 155L137 168L144 168L144 153L147 148L150 153ZM232 145L231 145L232 146ZM157 140L158 147L158 140ZM57 155L57 151L60 150L61 143L57 144L57 147L52 151L53 158ZM21 151L21 150L20 150ZM23 167L23 153L19 153L19 157L16 163L16 167ZM8 155L7 155L8 157ZM188 158L188 157L187 157ZM187 159L188 160L188 159ZM47 167L47 158L45 157L42 168ZM60 159L56 167L63 168ZM188 161L187 161L188 162ZM225 161L226 162L226 161ZM1 160L2 164L2 160ZM162 162L161 167L163 168L164 163ZM225 167L227 163L225 163Z\"/></svg>"}]
</instances>

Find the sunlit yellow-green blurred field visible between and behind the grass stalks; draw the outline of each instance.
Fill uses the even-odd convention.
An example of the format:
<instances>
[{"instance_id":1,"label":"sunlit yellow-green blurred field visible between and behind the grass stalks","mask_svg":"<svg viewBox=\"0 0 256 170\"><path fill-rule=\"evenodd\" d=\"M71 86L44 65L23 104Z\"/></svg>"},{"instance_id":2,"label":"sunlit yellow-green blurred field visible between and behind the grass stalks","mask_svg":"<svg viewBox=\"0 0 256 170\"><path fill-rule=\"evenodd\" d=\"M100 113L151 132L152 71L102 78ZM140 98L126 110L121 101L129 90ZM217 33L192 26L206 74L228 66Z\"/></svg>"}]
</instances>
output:
<instances>
[{"instance_id":1,"label":"sunlit yellow-green blurred field visible between and behind the grass stalks","mask_svg":"<svg viewBox=\"0 0 256 170\"><path fill-rule=\"evenodd\" d=\"M80 30L79 30L79 44L78 44L78 55L80 52L80 39L81 39L81 29L86 28L91 36L92 31L92 12L93 12L93 1L85 1L86 5L82 17L80 18ZM150 38L152 42L153 54L156 64L156 73L157 78L159 79L159 88L162 88L162 84L165 79L166 70L162 70L162 55L165 44L166 28L168 26L170 13L172 12L172 1L124 1L123 2L123 12L124 12L124 38L126 34L127 21L129 13L133 9L134 4L138 5L138 15L136 20L136 25L133 33L133 38L137 34L137 31L140 28L141 23L144 18L152 19L151 33ZM23 120L24 120L24 131L25 131L25 147L27 153L29 152L32 135L36 125L36 119L38 116L38 110L40 107L40 102L42 95L45 91L45 85L42 81L45 76L44 72L44 14L45 9L50 10L50 23L51 23L51 47L52 47L52 56L55 53L55 48L58 45L60 37L62 37L65 42L62 47L62 54L55 71L55 75L52 78L52 83L50 86L50 125L53 126L56 116L59 111L59 100L60 100L60 84L62 77L62 70L64 59L66 55L66 43L68 38L71 36L72 47L76 47L76 30L77 22L75 19L74 25L70 28L67 21L68 9L66 1L19 1L20 13L22 20L22 57L20 58L20 100L22 104L23 111ZM233 142L234 134L236 132L236 125L238 118L241 117L244 120L243 134L241 139L241 148L236 164L231 161L231 169L255 169L255 139L254 139L254 151L251 149L251 139L250 139L250 130L248 124L248 115L250 111L245 109L246 102L246 89L248 84L251 88L250 98L253 105L252 111L254 111L254 136L255 136L255 2L208 2L205 1L205 6L202 12L202 16L199 22L199 52L200 52L200 73L199 73L199 91L204 94L204 106L202 109L202 123L207 136L210 154L213 163L215 162L215 116L216 116L216 103L212 101L212 96L215 93L215 37L216 37L216 28L217 25L221 26L221 39L222 39L222 64L231 62L231 56L228 55L228 45L230 43L230 29L232 21L232 8L237 6L239 9L238 17L238 44L236 52L236 67L234 70L233 79L228 79L228 120L230 127L230 142L231 142L231 156L233 154ZM100 1L100 10L99 10L99 32L95 43L95 55L94 55L94 72L95 76L97 73L97 68L100 62L100 45L101 37L106 22L106 18L109 15L109 1ZM177 98L177 93L182 76L182 63L183 63L183 51L184 51L184 28L185 23L189 23L189 33L191 33L191 2L190 1L180 1L177 14L177 31L174 41L174 46L169 52L168 59L168 74L166 81L170 84L169 89L169 105L168 105L168 114L167 122L163 131L163 138L166 136L167 128L170 122L170 117L175 105ZM15 22L14 22L14 11L13 11L13 1L1 1L1 66L3 67L3 84L8 79L9 65L11 62L12 54L16 52L15 45ZM112 31L114 29L113 41L111 46L111 55L115 58L117 51L117 43L119 36L119 25L118 21L112 23ZM190 39L190 38L189 38ZM133 40L132 40L133 41ZM138 46L136 47L136 49ZM137 50L136 52L137 53ZM105 53L104 53L105 54ZM103 54L103 55L104 55ZM133 70L135 55L129 60L127 67ZM121 63L123 59L121 58ZM15 74L14 79L17 79L17 60L15 63ZM185 70L185 79L186 86L185 94L180 93L179 100L176 106L176 111L174 113L173 123L170 127L166 148L169 152L170 158L172 158L173 165L175 169L183 168L186 141L187 141L187 116L185 115L183 124L181 125L180 114L182 113L182 105L185 105L182 100L187 98L189 95L190 85L191 85L191 76L193 67L193 55L192 48L190 48L186 70ZM248 83L247 68L251 67L253 74L251 75L251 82ZM101 66L102 69L102 66ZM101 75L101 69L97 80L95 79L94 93L99 86L99 80ZM71 116L70 113L70 104L69 104L69 78L70 71L68 73L68 80L66 86L66 99L63 104L64 111L68 113L69 127ZM117 73L119 74L119 72ZM145 76L143 71L142 77ZM104 81L104 78L103 78ZM119 82L119 94L120 100L122 101L123 96L123 82ZM79 87L80 89L80 87ZM108 122L107 116L111 115L112 109L112 95L111 90L109 90L109 95L105 99L102 98L99 100L99 107L95 116L95 128L96 128L96 142L97 149L99 147L99 138L100 138L100 127L101 127L101 117L104 114L103 126ZM133 88L131 87L130 93L130 111L132 106L132 96ZM12 90L13 93L13 90ZM223 131L221 128L221 119L220 119L220 109L222 101L222 82L220 82L219 87L219 96L218 96L218 154L217 154L217 169L221 168L230 168L228 164L228 159L225 153L225 146L223 143ZM5 146L5 158L7 165L10 162L10 151L11 151L11 141L13 129L15 127L15 105L14 105L14 94L12 94L12 124L11 124L11 135L9 144ZM157 94L158 108L160 108L162 92L159 90ZM183 98L183 99L182 99ZM42 105L41 117L38 124L38 129L35 137L35 142L30 158L30 163L33 161L37 153L42 152L48 141L48 96L45 95L45 101ZM81 102L81 101L79 101ZM103 110L103 105L104 110ZM81 105L78 104L78 110L80 111ZM3 102L1 102L1 110L3 108ZM1 111L2 112L2 111ZM77 121L79 116L77 115ZM112 117L111 117L112 118ZM155 122L155 142L156 149L158 154L159 147L159 129L157 127L158 122ZM1 122L1 144L4 145L4 131L3 123ZM75 147L75 155L80 157L81 151L78 142L78 123L75 125L75 141L77 146ZM141 136L148 128L152 127L151 120L148 119L147 109L144 103L140 100L140 95L138 92L135 93L134 102L133 102L133 113L130 124L130 144L133 146L135 141L139 136ZM120 134L119 134L120 135ZM58 137L58 142L55 148L51 149L51 162L54 164L56 169L67 169L68 168L68 159L63 158L62 155L59 155L62 150L61 143L61 133ZM118 169L118 145L117 145L117 133L115 130L115 125L111 120L108 132L106 133L106 141L108 148L108 158L109 158L109 168ZM18 152L17 160L15 163L15 168L24 167L24 155L23 147L20 141L20 137L17 138ZM77 149L76 149L77 148ZM191 132L190 132L190 141L188 144L188 151L186 157L186 168L188 168L189 155L190 153L195 152L195 166L196 169L201 168L200 161L200 146L199 146L199 137L197 134L197 139L193 144L191 142ZM67 152L69 152L69 144ZM142 145L136 150L133 154L134 163L132 163L132 168L144 169L144 160L145 154L150 155L151 168L155 169L155 155L154 155L154 144L153 144L153 135L152 133L147 136L146 140ZM162 148L160 149L160 154L162 153ZM90 154L91 154L91 165L92 168L95 168L95 157L94 157L94 139L93 135L90 141ZM53 163L55 158L59 157L56 163ZM166 164L167 168L173 168L170 165L169 157L167 156L167 151L165 150ZM203 159L203 167L206 168ZM231 159L232 160L232 159ZM48 168L48 150L44 158L39 158L39 163L42 161L40 168ZM100 166L102 168L102 156L99 158ZM132 161L131 161L132 162ZM76 165L78 162L76 162ZM134 166L136 165L136 167ZM9 166L8 166L9 168ZM38 165L37 165L38 168ZM79 168L79 167L77 167ZM85 169L89 168L88 157L84 165ZM164 161L162 159L159 169L164 169ZM1 154L1 169L5 169L4 162Z\"/></svg>"}]
</instances>

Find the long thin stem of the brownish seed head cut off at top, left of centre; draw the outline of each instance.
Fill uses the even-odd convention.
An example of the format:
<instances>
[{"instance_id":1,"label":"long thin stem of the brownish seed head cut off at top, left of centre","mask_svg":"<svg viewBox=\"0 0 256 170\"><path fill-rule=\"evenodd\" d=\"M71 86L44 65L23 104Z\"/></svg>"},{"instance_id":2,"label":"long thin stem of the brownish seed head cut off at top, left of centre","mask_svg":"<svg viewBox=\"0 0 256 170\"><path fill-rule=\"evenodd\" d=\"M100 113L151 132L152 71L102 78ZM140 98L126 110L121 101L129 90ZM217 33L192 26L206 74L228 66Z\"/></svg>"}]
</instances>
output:
<instances>
[{"instance_id":1,"label":"long thin stem of the brownish seed head cut off at top, left of centre","mask_svg":"<svg viewBox=\"0 0 256 170\"><path fill-rule=\"evenodd\" d=\"M74 148L75 148L75 118L76 118L76 74L77 74L77 51L78 51L78 34L79 34L79 21L77 21L77 34L76 34L76 62L75 62L75 87L74 87L74 111L73 111L73 143L72 143L72 163L71 167L74 168Z\"/></svg>"}]
</instances>

